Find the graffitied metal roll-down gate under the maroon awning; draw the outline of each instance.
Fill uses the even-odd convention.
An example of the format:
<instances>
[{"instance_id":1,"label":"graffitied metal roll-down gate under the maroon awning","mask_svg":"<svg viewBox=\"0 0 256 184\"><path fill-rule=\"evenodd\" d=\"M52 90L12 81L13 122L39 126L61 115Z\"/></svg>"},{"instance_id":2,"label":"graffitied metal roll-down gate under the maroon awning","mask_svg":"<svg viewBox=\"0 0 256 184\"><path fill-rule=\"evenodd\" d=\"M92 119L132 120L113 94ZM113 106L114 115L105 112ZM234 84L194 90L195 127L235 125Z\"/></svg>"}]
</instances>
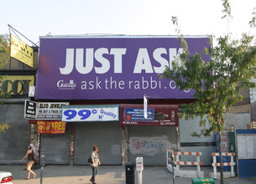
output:
<instances>
[{"instance_id":1,"label":"graffitied metal roll-down gate under the maroon awning","mask_svg":"<svg viewBox=\"0 0 256 184\"><path fill-rule=\"evenodd\" d=\"M144 166L164 166L165 149L175 148L175 126L128 126L128 161L144 157Z\"/></svg>"}]
</instances>

